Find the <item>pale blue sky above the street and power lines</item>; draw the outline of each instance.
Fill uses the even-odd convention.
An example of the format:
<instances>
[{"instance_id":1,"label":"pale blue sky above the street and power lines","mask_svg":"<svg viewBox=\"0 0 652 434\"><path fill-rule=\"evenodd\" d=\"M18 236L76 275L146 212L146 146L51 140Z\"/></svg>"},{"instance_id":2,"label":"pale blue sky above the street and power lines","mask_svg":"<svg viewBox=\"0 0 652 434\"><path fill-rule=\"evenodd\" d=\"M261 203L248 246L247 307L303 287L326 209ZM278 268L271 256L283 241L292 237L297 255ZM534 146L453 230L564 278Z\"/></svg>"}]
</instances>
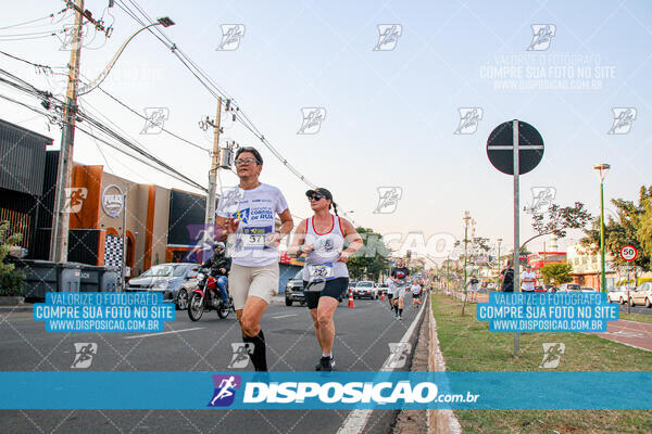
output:
<instances>
[{"instance_id":1,"label":"pale blue sky above the street and power lines","mask_svg":"<svg viewBox=\"0 0 652 434\"><path fill-rule=\"evenodd\" d=\"M104 1L87 1L96 16ZM522 178L522 203L531 202L532 187L554 187L555 201L581 201L597 213L599 182L591 167L606 162L605 197L636 199L650 184L652 161L651 88L652 5L647 1L377 1L377 2L237 2L140 1L151 15L170 15L176 25L166 34L204 68L247 112L256 127L311 181L333 191L342 209L354 210L355 222L381 233L422 231L426 237L462 237L462 215L468 209L478 235L505 244L512 240L512 179L498 173L486 155L486 141L502 122L519 118L535 125L546 141L539 167ZM12 3L2 25L45 16L62 8L59 1ZM118 8L114 34L98 37L83 52L82 72L97 75L138 25ZM64 21L70 23L71 20ZM40 24L42 24L41 22ZM47 21L45 22L48 23ZM64 23L30 30L0 30L0 50L34 62L65 66L70 53L55 38L9 41L9 34L61 28ZM221 25L243 24L236 51L216 51ZM379 24L401 26L391 51L373 51ZM534 24L552 24L555 34L543 51L527 51ZM569 61L579 55L584 63ZM506 64L501 60L507 59ZM575 58L573 58L575 59ZM41 88L54 80L34 68L2 59L7 68ZM589 67L594 89L502 90L488 78L498 66L522 74ZM537 67L532 67L536 65ZM528 66L530 67L528 69ZM552 68L560 66L561 68ZM565 68L565 69L564 69ZM598 74L605 76L598 76ZM561 77L565 78L565 77ZM540 84L526 79L527 86ZM210 146L212 135L197 127L215 112L215 100L152 35L139 35L125 50L103 88L128 105L168 107L165 127ZM5 87L2 94L15 97ZM29 101L25 100L24 101ZM85 105L86 104L86 105ZM142 119L134 117L100 91L82 101L127 135L205 182L209 158L175 139L139 135ZM302 107L324 107L319 132L297 135ZM460 107L481 107L477 130L454 135ZM613 107L635 107L628 133L607 135ZM48 133L42 118L0 102L0 117ZM266 164L262 180L285 192L293 214L310 213L305 186L280 165L260 141L234 126L225 137L261 148ZM102 149L110 171L139 182L181 187L176 181ZM97 145L77 133L75 159L104 164ZM225 186L236 180L222 178ZM393 214L373 214L378 187L402 188ZM522 240L529 238L528 215L522 218ZM562 241L564 246L576 240ZM504 246L504 244L503 244ZM531 248L539 250L542 243ZM504 248L504 247L503 247Z\"/></svg>"}]
</instances>

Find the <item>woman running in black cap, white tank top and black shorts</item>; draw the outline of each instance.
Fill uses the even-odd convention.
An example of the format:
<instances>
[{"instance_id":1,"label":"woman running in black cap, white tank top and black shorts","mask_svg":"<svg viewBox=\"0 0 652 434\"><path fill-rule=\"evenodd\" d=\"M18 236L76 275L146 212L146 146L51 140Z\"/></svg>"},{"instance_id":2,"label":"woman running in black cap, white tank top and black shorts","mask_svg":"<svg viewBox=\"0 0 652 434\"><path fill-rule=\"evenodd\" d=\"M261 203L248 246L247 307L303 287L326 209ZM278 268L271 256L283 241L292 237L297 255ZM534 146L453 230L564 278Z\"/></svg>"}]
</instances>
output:
<instances>
[{"instance_id":1,"label":"woman running in black cap, white tank top and black shorts","mask_svg":"<svg viewBox=\"0 0 652 434\"><path fill-rule=\"evenodd\" d=\"M299 224L288 253L305 254L303 293L310 309L322 358L317 371L333 371L333 342L335 323L333 315L349 289L347 260L362 247L363 242L353 225L337 214L333 194L323 188L305 192L314 215ZM330 214L330 208L335 215ZM344 248L344 240L350 244Z\"/></svg>"}]
</instances>

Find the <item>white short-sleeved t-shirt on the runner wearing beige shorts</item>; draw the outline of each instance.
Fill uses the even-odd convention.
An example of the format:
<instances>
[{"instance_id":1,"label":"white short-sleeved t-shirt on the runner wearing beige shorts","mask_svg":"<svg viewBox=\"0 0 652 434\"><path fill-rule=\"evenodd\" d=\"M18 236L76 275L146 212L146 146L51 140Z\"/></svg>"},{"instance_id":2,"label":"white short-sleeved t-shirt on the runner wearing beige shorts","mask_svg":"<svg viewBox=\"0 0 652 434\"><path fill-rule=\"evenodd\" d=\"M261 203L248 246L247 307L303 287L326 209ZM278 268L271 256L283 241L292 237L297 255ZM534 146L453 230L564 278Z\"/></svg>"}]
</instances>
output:
<instances>
[{"instance_id":1,"label":"white short-sleeved t-shirt on the runner wearing beige shorts","mask_svg":"<svg viewBox=\"0 0 652 434\"><path fill-rule=\"evenodd\" d=\"M235 188L224 192L217 202L217 215L240 222L228 238L227 252L234 264L264 267L278 261L278 247L267 245L266 240L274 232L276 215L286 209L288 203L280 190L266 183L253 190Z\"/></svg>"}]
</instances>

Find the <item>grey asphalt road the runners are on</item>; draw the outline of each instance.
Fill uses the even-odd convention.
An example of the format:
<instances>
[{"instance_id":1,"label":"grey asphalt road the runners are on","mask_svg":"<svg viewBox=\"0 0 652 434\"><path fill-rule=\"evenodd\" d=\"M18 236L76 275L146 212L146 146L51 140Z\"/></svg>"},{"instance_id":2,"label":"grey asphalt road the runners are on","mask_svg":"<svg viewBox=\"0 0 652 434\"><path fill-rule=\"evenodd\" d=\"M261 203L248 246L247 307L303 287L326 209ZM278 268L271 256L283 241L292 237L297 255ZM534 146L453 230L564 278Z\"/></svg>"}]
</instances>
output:
<instances>
[{"instance_id":1,"label":"grey asphalt road the runners are on","mask_svg":"<svg viewBox=\"0 0 652 434\"><path fill-rule=\"evenodd\" d=\"M387 302L355 301L354 308L348 308L347 301L342 302L335 315L336 368L343 371L379 370L390 355L388 343L400 342L416 314L409 308L403 320L397 321L390 315ZM262 327L268 343L271 370L314 369L321 349L305 307L272 305ZM186 311L177 311L177 319L167 322L165 331L142 337L134 333L48 333L43 323L34 321L30 314L2 315L0 366L4 371L79 371L71 368L75 357L74 343L90 342L97 343L98 349L92 365L86 370L252 369L251 366L234 368L231 365L231 344L241 342L234 314L221 320L214 311L205 312L199 322L192 322ZM35 399L38 399L37 391ZM0 411L0 432L336 433L348 414L348 410L5 410ZM389 432L394 416L391 410L374 411L364 432Z\"/></svg>"}]
</instances>

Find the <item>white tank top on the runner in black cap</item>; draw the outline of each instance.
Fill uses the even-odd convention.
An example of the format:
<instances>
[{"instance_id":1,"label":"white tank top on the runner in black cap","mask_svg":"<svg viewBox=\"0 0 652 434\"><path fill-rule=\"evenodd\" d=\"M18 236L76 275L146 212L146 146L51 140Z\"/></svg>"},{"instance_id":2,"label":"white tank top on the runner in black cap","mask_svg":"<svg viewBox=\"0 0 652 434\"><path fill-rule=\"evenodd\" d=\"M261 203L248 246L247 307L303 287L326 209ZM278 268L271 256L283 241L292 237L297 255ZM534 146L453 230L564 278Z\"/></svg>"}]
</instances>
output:
<instances>
[{"instance_id":1,"label":"white tank top on the runner in black cap","mask_svg":"<svg viewBox=\"0 0 652 434\"><path fill-rule=\"evenodd\" d=\"M330 216L333 225L325 233L315 230L313 217L305 220L305 243L313 244L314 250L305 255L303 280L318 282L349 277L347 265L337 261L344 248L341 221L339 217Z\"/></svg>"}]
</instances>

